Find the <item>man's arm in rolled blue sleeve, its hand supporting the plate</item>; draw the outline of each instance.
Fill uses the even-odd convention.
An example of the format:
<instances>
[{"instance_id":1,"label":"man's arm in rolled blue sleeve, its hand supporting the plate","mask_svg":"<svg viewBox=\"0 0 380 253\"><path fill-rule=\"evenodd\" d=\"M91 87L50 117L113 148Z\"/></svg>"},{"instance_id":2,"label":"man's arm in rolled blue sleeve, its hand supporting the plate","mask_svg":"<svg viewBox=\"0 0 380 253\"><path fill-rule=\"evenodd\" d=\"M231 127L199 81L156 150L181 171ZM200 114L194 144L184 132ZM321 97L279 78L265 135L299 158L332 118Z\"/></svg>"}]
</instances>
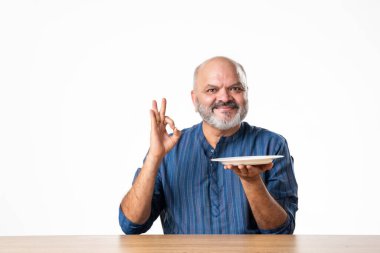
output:
<instances>
[{"instance_id":1,"label":"man's arm in rolled blue sleeve, its hand supporting the plate","mask_svg":"<svg viewBox=\"0 0 380 253\"><path fill-rule=\"evenodd\" d=\"M292 233L297 210L297 183L286 141L276 154L284 155L273 165L225 166L239 177L252 214L262 233ZM263 181L260 174L265 173Z\"/></svg>"}]
</instances>

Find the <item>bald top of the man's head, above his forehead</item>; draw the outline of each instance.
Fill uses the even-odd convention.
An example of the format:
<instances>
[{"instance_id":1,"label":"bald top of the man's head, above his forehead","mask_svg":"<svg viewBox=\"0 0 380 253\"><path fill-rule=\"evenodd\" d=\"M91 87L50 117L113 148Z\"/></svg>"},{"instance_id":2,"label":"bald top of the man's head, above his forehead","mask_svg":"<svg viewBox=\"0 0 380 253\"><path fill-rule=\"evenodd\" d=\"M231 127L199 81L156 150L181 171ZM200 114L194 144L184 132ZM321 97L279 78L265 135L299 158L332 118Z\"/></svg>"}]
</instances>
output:
<instances>
[{"instance_id":1,"label":"bald top of the man's head, above his forehead","mask_svg":"<svg viewBox=\"0 0 380 253\"><path fill-rule=\"evenodd\" d=\"M202 62L194 71L193 89L197 88L199 78L202 78L205 74L220 74L222 75L226 71L232 71L238 78L241 84L247 88L247 78L244 68L238 62L224 57L216 56Z\"/></svg>"}]
</instances>

